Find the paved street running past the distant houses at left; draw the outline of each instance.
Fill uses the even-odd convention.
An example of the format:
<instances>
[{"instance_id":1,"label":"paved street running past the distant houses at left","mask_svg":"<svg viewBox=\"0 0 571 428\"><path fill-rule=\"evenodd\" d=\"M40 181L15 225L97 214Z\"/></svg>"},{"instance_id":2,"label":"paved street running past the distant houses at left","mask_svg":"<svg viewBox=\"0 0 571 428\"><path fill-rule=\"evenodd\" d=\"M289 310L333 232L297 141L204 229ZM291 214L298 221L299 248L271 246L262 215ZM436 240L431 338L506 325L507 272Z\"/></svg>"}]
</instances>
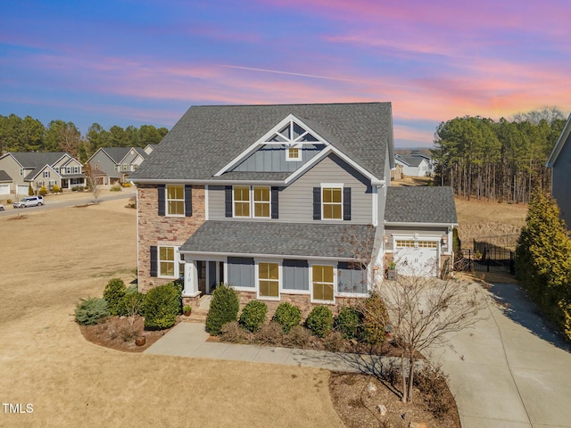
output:
<instances>
[{"instance_id":1,"label":"paved street running past the distant houses at left","mask_svg":"<svg viewBox=\"0 0 571 428\"><path fill-rule=\"evenodd\" d=\"M103 190L97 200L99 202L113 201L116 199L127 199L132 198L137 195L137 190L135 188L125 188L121 192L109 192L108 190ZM95 198L93 193L62 193L62 194L51 194L45 198L46 204L41 207L29 207L22 209L12 208L12 204L4 203L4 211L0 211L0 216L9 216L13 214L27 214L30 212L37 212L41 210L53 210L55 208L72 207L74 205L81 205L85 203L93 203Z\"/></svg>"}]
</instances>

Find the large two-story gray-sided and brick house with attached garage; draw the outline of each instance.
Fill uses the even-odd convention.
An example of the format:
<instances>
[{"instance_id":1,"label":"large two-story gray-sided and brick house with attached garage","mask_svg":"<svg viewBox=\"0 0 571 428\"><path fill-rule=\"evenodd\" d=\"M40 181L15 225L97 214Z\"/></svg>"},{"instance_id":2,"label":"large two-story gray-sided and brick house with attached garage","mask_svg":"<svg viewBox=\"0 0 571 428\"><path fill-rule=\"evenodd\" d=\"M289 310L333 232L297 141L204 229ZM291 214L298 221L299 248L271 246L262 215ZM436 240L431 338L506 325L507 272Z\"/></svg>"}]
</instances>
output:
<instances>
[{"instance_id":1,"label":"large two-story gray-sided and brick house with attached garage","mask_svg":"<svg viewBox=\"0 0 571 428\"><path fill-rule=\"evenodd\" d=\"M139 290L182 278L196 305L223 282L307 310L366 297L393 261L437 276L451 189L393 192L393 167L391 103L191 107L131 176Z\"/></svg>"}]
</instances>

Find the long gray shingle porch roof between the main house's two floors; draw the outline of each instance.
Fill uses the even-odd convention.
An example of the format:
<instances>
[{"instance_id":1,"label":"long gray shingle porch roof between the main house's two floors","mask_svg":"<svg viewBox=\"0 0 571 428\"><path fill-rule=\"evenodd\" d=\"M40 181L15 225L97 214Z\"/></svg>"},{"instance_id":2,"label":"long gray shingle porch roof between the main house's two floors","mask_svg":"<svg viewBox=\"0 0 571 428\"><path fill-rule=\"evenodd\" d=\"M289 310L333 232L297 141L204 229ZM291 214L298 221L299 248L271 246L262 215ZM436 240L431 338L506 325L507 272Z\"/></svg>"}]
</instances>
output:
<instances>
[{"instance_id":1,"label":"long gray shingle porch roof between the main house's two floors","mask_svg":"<svg viewBox=\"0 0 571 428\"><path fill-rule=\"evenodd\" d=\"M365 242L369 227L209 220L188 238L180 250L350 259L353 247L348 238L354 235L359 242Z\"/></svg>"}]
</instances>

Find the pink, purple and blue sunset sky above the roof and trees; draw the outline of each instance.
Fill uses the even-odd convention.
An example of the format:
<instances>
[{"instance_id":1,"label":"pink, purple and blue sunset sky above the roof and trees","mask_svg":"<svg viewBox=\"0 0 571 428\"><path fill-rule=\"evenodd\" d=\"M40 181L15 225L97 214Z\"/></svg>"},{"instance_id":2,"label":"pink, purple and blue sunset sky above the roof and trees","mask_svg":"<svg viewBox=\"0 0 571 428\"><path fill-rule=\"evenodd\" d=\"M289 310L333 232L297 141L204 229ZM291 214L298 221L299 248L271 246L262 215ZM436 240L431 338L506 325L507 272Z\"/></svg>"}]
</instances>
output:
<instances>
[{"instance_id":1,"label":"pink, purple and blue sunset sky above the roof and trees","mask_svg":"<svg viewBox=\"0 0 571 428\"><path fill-rule=\"evenodd\" d=\"M0 114L83 134L191 105L390 101L397 147L441 121L571 110L569 0L21 0Z\"/></svg>"}]
</instances>

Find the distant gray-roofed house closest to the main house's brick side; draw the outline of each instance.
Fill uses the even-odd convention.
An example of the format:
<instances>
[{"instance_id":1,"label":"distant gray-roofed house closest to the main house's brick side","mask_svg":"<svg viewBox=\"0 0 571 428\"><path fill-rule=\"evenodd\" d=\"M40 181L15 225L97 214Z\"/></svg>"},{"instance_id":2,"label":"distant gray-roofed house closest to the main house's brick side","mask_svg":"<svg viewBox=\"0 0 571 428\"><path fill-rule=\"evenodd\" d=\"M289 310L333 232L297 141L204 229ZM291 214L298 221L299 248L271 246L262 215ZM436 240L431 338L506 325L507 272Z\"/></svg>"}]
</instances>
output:
<instances>
[{"instance_id":1,"label":"distant gray-roofed house closest to the main house's brick side","mask_svg":"<svg viewBox=\"0 0 571 428\"><path fill-rule=\"evenodd\" d=\"M148 144L145 149L153 152ZM129 175L145 161L147 152L140 147L101 147L86 163L99 177L100 185L115 185L128 181Z\"/></svg>"}]
</instances>

